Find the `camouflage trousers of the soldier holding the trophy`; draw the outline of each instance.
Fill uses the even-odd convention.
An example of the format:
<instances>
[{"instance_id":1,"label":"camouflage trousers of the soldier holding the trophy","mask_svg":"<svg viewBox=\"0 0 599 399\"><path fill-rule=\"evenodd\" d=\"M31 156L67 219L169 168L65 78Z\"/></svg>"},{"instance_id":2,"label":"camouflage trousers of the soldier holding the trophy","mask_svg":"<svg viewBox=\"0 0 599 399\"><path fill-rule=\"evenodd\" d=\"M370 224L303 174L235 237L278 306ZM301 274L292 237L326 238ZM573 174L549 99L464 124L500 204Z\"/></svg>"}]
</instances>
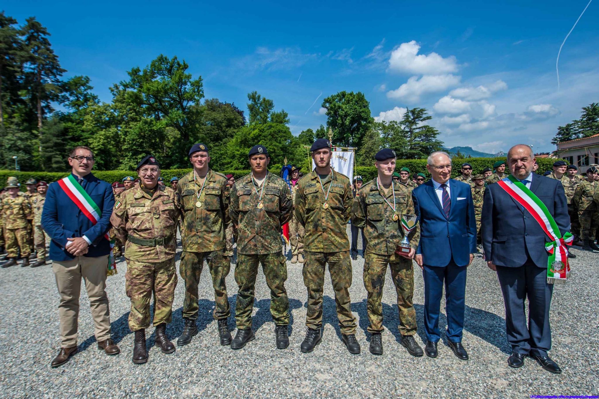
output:
<instances>
[{"instance_id":1,"label":"camouflage trousers of the soldier holding the trophy","mask_svg":"<svg viewBox=\"0 0 599 399\"><path fill-rule=\"evenodd\" d=\"M414 294L414 268L412 259L403 256L379 255L367 252L364 258L364 288L368 292L367 311L370 333L383 331L383 286L387 265L391 269L391 278L397 292L397 308L400 313L401 335L416 334L416 310L412 301Z\"/></svg>"}]
</instances>

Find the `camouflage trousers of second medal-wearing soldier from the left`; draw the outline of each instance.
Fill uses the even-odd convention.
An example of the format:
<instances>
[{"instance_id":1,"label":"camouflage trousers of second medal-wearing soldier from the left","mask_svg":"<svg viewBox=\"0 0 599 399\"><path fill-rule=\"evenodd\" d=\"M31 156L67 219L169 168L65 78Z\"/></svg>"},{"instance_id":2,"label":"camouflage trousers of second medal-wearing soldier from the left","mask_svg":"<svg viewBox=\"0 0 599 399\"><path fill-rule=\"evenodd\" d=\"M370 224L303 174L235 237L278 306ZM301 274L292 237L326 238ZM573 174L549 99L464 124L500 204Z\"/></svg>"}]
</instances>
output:
<instances>
[{"instance_id":1,"label":"camouflage trousers of second medal-wearing soldier from the left","mask_svg":"<svg viewBox=\"0 0 599 399\"><path fill-rule=\"evenodd\" d=\"M287 262L283 252L262 254L238 254L239 263L235 267L235 282L239 286L235 304L235 323L240 330L252 328L252 310L254 307L254 289L258 266L270 288L270 314L274 324L289 324L289 298L285 289L287 280Z\"/></svg>"}]
</instances>

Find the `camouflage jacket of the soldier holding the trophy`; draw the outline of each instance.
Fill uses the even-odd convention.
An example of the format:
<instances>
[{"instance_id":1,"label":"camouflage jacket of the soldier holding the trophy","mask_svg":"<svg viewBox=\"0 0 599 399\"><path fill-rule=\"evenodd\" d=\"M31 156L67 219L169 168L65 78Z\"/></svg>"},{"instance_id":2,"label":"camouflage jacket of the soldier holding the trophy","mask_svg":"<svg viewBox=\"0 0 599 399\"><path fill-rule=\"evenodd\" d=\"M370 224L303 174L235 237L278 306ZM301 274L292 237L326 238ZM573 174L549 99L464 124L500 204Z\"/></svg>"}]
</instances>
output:
<instances>
[{"instance_id":1,"label":"camouflage jacket of the soldier holding the trophy","mask_svg":"<svg viewBox=\"0 0 599 399\"><path fill-rule=\"evenodd\" d=\"M377 188L376 179L362 186L358 196L353 199L352 225L364 229L366 252L393 255L405 235L401 228L401 215L416 214L412 202L412 189L395 182L393 187L395 211L385 202L385 192L383 188ZM391 205L393 194L389 190L389 194L386 195ZM397 220L393 220L394 214L397 214ZM410 246L416 249L420 241L420 223L416 223L408 238Z\"/></svg>"}]
</instances>

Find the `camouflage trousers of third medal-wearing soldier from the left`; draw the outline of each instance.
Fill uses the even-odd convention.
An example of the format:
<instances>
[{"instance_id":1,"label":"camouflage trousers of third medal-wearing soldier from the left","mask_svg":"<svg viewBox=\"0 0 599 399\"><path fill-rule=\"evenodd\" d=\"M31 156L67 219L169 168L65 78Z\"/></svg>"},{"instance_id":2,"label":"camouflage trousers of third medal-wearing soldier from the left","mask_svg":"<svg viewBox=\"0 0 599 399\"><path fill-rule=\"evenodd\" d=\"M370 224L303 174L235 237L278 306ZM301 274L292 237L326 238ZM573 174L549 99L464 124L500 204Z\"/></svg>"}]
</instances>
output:
<instances>
[{"instance_id":1,"label":"camouflage trousers of third medal-wearing soldier from the left","mask_svg":"<svg viewBox=\"0 0 599 399\"><path fill-rule=\"evenodd\" d=\"M354 334L356 318L352 314L352 303L349 298L349 288L352 286L352 261L349 251L343 252L310 252L305 251L304 285L308 289L308 309L305 325L313 330L322 327L322 292L325 285L326 264L333 291L341 334Z\"/></svg>"}]
</instances>

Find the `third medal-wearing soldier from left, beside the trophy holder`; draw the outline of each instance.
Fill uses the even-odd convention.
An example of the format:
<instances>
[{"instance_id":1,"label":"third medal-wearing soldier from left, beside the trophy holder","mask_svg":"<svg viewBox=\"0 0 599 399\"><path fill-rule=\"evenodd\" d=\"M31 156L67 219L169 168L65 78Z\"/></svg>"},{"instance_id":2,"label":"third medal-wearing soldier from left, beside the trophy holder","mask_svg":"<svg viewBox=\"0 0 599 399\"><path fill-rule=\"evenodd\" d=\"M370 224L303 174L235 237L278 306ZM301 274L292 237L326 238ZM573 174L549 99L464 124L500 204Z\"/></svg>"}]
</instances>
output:
<instances>
[{"instance_id":1,"label":"third medal-wearing soldier from left, beside the trophy holder","mask_svg":"<svg viewBox=\"0 0 599 399\"><path fill-rule=\"evenodd\" d=\"M331 168L331 143L319 138L310 147L316 168L299 179L295 216L305 228L304 284L308 290L308 327L301 351L311 352L322 340L322 292L326 264L335 291L341 340L350 353L360 353L356 340L356 318L352 315L349 288L352 261L346 226L352 211L349 179ZM368 243L367 243L368 245Z\"/></svg>"}]
</instances>

